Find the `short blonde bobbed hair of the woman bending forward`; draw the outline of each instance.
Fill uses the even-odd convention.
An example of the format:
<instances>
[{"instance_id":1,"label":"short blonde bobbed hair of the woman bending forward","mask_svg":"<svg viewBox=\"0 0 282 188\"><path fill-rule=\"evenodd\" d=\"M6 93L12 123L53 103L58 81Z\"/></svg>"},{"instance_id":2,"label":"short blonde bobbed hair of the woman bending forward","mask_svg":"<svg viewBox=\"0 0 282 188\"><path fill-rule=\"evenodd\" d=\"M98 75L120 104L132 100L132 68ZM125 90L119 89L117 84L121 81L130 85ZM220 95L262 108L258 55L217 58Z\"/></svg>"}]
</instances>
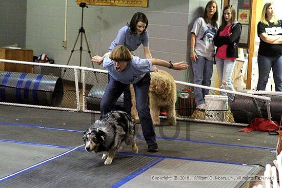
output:
<instances>
[{"instance_id":1,"label":"short blonde bobbed hair of the woman bending forward","mask_svg":"<svg viewBox=\"0 0 282 188\"><path fill-rule=\"evenodd\" d=\"M133 56L126 46L118 45L116 46L110 54L110 59L120 62L120 61L131 61Z\"/></svg>"}]
</instances>

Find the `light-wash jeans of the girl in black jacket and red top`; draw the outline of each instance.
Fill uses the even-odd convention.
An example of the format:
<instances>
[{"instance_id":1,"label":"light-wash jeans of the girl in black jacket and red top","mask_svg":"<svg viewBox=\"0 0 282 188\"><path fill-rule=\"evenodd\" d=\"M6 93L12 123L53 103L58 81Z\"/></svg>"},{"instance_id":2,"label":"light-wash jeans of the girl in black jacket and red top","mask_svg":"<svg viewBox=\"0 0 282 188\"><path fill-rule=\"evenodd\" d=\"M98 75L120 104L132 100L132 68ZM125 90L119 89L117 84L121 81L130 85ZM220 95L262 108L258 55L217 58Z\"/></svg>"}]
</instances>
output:
<instances>
[{"instance_id":1,"label":"light-wash jeans of the girl in black jacket and red top","mask_svg":"<svg viewBox=\"0 0 282 188\"><path fill-rule=\"evenodd\" d=\"M220 59L215 57L216 69L219 80L219 87L221 89L234 91L234 87L231 81L232 73L236 60ZM224 93L226 95L226 93ZM229 103L234 99L234 94L227 93Z\"/></svg>"}]
</instances>

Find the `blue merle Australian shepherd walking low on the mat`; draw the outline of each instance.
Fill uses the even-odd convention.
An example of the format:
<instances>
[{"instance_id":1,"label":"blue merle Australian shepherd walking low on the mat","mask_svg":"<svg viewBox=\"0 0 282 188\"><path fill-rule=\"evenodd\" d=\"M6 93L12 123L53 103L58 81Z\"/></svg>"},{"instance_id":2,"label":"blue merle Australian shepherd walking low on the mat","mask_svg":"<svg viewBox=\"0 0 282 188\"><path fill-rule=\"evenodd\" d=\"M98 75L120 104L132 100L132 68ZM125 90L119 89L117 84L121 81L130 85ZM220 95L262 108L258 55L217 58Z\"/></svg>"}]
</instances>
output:
<instances>
[{"instance_id":1,"label":"blue merle Australian shepherd walking low on the mat","mask_svg":"<svg viewBox=\"0 0 282 188\"><path fill-rule=\"evenodd\" d=\"M115 151L119 151L123 141L138 153L135 143L135 126L130 115L122 111L109 112L102 120L95 123L85 131L83 140L85 150L103 152L104 164L111 164Z\"/></svg>"}]
</instances>

